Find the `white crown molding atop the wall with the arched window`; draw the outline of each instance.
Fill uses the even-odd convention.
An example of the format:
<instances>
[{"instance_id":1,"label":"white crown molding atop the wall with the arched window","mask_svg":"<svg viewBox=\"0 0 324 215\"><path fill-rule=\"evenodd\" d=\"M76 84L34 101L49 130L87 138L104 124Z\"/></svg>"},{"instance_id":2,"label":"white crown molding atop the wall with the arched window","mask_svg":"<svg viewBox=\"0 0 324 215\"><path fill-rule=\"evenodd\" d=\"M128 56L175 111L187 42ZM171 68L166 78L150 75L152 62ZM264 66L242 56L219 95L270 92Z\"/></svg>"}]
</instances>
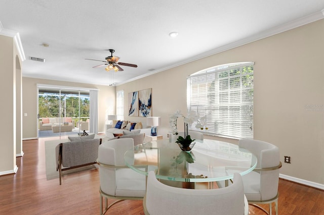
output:
<instances>
[{"instance_id":1,"label":"white crown molding atop the wall with the arched window","mask_svg":"<svg viewBox=\"0 0 324 215\"><path fill-rule=\"evenodd\" d=\"M146 74L138 76L136 78L132 78L132 79L130 79L128 81L117 83L117 84L115 84L115 86L118 86L118 85L121 85L121 84L126 84L128 82L135 81L135 80L144 78L146 76L153 75L153 74L158 73L158 72L162 72L162 71L165 71L165 70L168 70L168 69L172 69L174 67L178 67L178 66L181 66L181 65L184 65L184 64L199 60L199 59L203 59L203 58L215 55L217 53L220 53L220 52L232 49L232 48L239 47L241 45L245 45L245 44L248 44L248 43L251 43L251 42L255 42L257 40L264 39L266 37L273 36L275 34L279 34L279 33L282 33L282 32L285 32L285 31L300 27L302 25L306 25L306 24L309 24L311 22L318 21L318 20L323 19L323 18L324 18L324 9L322 9L321 11L319 11L317 13L313 13L313 14L310 14L308 16L299 18L297 20L285 23L283 25L280 25L280 26L268 29L266 31L262 31L260 33L254 34L254 35L252 35L250 37L246 37L244 39L240 39L240 40L237 40L235 42L232 42L232 43L217 47L217 48L212 49L210 51L207 51L207 52L201 53L199 55L196 55L196 56L194 56L192 58L186 59L185 61L178 62L177 64L174 64L174 65L171 65L171 66L168 66L168 67L165 67L165 68L160 68L158 70L154 70L153 72L146 73Z\"/></svg>"}]
</instances>

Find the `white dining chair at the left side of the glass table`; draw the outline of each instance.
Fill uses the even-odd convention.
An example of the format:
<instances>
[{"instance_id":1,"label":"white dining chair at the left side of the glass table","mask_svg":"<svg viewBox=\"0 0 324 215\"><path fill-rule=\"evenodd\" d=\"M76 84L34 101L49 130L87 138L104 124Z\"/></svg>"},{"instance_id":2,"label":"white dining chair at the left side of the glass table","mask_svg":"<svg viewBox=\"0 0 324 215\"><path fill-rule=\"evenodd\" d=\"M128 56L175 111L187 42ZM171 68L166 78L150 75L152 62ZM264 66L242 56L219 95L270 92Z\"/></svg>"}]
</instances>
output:
<instances>
[{"instance_id":1,"label":"white dining chair at the left side of the glass table","mask_svg":"<svg viewBox=\"0 0 324 215\"><path fill-rule=\"evenodd\" d=\"M133 138L113 139L99 146L97 164L99 165L101 214L119 201L143 199L145 195L146 176L130 169L124 160L125 152L132 148L134 148ZM137 168L141 167L145 171L146 166ZM103 198L105 199L104 210ZM108 198L118 200L108 205Z\"/></svg>"}]
</instances>

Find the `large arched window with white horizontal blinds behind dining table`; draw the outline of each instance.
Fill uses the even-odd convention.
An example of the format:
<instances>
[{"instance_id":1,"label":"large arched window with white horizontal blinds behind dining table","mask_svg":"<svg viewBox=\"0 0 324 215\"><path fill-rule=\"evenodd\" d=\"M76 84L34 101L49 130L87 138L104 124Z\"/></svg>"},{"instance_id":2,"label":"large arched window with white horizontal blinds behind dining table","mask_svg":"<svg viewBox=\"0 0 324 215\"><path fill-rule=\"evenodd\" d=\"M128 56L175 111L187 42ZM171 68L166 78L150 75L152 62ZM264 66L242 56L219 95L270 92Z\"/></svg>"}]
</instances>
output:
<instances>
[{"instance_id":1,"label":"large arched window with white horizontal blinds behind dining table","mask_svg":"<svg viewBox=\"0 0 324 215\"><path fill-rule=\"evenodd\" d=\"M188 76L187 109L199 114L202 125L195 122L191 130L253 138L253 65L220 65Z\"/></svg>"}]
</instances>

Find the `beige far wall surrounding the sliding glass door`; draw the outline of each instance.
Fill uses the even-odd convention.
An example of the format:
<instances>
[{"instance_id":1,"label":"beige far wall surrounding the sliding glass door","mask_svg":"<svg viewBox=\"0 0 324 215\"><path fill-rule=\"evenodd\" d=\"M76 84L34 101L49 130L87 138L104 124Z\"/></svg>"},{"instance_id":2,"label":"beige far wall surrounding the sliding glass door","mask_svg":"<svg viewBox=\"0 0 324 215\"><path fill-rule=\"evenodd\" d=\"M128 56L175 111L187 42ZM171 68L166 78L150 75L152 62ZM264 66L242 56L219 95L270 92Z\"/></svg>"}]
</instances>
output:
<instances>
[{"instance_id":1,"label":"beige far wall surrounding the sliding glass door","mask_svg":"<svg viewBox=\"0 0 324 215\"><path fill-rule=\"evenodd\" d=\"M23 139L37 137L37 84L99 89L98 132L105 131L107 116L115 110L115 87L23 77Z\"/></svg>"}]
</instances>

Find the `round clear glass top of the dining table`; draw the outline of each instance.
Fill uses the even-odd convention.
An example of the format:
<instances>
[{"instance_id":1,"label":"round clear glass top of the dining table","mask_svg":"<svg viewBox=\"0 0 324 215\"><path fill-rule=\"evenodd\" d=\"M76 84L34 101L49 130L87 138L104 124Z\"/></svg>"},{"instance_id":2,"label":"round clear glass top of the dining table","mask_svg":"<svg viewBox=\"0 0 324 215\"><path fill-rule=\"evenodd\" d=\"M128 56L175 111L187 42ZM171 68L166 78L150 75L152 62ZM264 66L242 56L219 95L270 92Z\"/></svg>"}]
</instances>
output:
<instances>
[{"instance_id":1,"label":"round clear glass top of the dining table","mask_svg":"<svg viewBox=\"0 0 324 215\"><path fill-rule=\"evenodd\" d=\"M168 139L150 141L127 150L124 158L127 166L140 174L154 170L157 179L177 182L225 181L235 172L246 175L257 165L249 150L210 139L195 140L190 152Z\"/></svg>"}]
</instances>

